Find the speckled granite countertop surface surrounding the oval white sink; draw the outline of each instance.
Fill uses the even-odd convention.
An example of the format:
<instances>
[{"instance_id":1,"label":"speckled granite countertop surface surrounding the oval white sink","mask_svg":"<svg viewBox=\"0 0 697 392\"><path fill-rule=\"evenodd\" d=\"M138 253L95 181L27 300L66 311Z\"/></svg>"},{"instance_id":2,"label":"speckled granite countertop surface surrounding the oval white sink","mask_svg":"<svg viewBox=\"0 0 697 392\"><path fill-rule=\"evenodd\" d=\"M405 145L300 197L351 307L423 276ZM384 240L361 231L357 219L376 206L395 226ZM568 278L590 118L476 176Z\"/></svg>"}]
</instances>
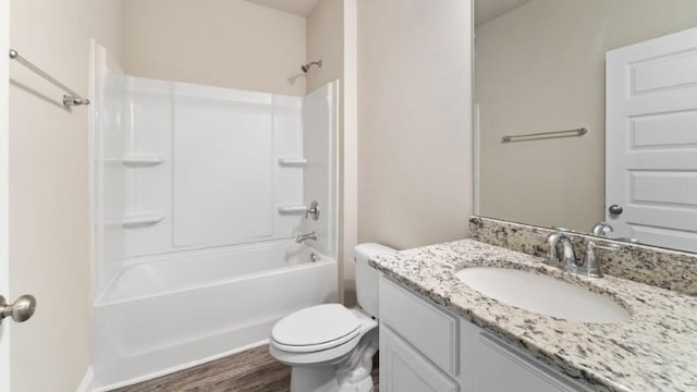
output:
<instances>
[{"instance_id":1,"label":"speckled granite countertop surface surrounding the oval white sink","mask_svg":"<svg viewBox=\"0 0 697 392\"><path fill-rule=\"evenodd\" d=\"M463 240L377 256L370 266L454 314L525 348L596 391L697 391L697 297L606 275L590 279L543 259ZM575 282L624 306L629 320L582 323L504 305L454 272L505 267Z\"/></svg>"}]
</instances>

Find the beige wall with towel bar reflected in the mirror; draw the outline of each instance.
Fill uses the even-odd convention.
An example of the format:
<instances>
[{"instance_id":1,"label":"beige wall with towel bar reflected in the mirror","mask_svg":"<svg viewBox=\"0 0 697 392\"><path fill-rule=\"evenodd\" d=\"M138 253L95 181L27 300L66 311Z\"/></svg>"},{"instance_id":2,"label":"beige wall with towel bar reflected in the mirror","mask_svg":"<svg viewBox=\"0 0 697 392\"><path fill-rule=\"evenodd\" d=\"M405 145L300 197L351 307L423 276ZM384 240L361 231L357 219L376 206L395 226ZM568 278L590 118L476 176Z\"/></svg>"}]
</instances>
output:
<instances>
[{"instance_id":1,"label":"beige wall with towel bar reflected in the mirror","mask_svg":"<svg viewBox=\"0 0 697 392\"><path fill-rule=\"evenodd\" d=\"M477 28L480 213L587 231L604 215L604 53L697 26L694 0L534 0ZM583 137L503 135L586 126Z\"/></svg>"}]
</instances>

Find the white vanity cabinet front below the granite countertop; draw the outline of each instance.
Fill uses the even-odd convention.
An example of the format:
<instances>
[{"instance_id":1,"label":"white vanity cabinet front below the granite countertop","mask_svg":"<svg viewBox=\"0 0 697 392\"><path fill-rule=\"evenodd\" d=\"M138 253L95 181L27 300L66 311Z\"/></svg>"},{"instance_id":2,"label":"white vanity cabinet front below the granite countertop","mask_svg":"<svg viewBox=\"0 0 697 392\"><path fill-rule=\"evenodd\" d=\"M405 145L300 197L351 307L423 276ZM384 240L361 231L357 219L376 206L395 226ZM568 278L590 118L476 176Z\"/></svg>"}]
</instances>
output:
<instances>
[{"instance_id":1,"label":"white vanity cabinet front below the granite countertop","mask_svg":"<svg viewBox=\"0 0 697 392\"><path fill-rule=\"evenodd\" d=\"M380 392L590 391L380 278Z\"/></svg>"}]
</instances>

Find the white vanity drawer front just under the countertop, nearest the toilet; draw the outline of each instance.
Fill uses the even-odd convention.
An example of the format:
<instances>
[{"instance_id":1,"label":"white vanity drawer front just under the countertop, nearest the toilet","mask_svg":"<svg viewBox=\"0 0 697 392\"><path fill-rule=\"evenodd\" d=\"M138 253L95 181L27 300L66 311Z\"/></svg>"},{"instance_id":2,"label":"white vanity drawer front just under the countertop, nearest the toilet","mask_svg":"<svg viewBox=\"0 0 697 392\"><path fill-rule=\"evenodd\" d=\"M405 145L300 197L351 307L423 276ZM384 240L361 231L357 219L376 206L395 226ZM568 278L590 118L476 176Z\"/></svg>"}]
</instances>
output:
<instances>
[{"instance_id":1,"label":"white vanity drawer front just under the countertop, nearest the toilet","mask_svg":"<svg viewBox=\"0 0 697 392\"><path fill-rule=\"evenodd\" d=\"M457 376L457 318L380 278L380 322L451 376Z\"/></svg>"}]
</instances>

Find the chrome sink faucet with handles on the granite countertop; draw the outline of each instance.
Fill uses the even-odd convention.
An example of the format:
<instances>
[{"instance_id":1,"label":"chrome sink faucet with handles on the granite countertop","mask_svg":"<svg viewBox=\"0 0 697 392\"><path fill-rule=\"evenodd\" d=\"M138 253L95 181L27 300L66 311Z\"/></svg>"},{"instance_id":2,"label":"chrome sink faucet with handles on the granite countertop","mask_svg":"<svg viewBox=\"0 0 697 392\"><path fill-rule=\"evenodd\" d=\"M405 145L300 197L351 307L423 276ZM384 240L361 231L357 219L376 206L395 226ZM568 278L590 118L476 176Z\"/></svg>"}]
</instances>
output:
<instances>
[{"instance_id":1,"label":"chrome sink faucet with handles on the granite countertop","mask_svg":"<svg viewBox=\"0 0 697 392\"><path fill-rule=\"evenodd\" d=\"M549 245L548 264L550 266L589 278L602 278L600 260L596 255L596 249L620 249L620 246L615 244L597 244L592 241L587 241L584 256L577 258L571 237L563 232L554 232L548 235L547 244ZM562 247L561 255L559 252L560 246Z\"/></svg>"}]
</instances>

